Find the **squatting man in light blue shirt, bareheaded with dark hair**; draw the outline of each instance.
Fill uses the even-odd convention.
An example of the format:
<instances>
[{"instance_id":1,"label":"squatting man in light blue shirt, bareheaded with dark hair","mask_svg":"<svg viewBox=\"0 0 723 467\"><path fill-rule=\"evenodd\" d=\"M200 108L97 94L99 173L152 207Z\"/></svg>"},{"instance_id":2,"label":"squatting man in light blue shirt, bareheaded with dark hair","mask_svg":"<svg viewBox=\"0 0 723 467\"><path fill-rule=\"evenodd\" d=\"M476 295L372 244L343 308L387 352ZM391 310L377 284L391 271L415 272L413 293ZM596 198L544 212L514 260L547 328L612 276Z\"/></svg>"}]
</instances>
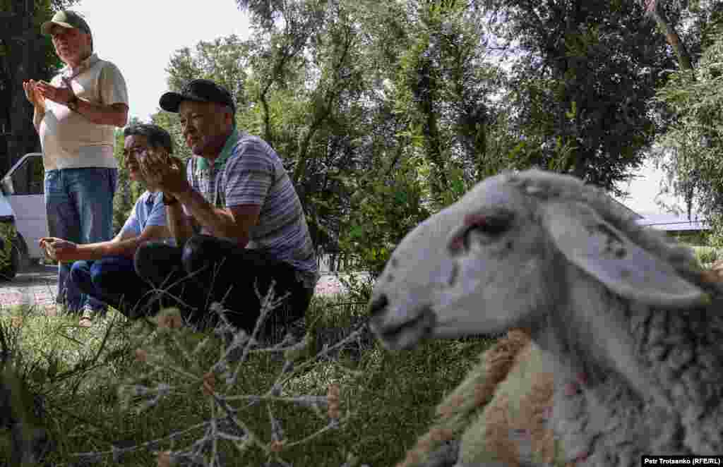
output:
<instances>
[{"instance_id":1,"label":"squatting man in light blue shirt, bareheaded with dark hair","mask_svg":"<svg viewBox=\"0 0 723 467\"><path fill-rule=\"evenodd\" d=\"M84 294L111 305L127 317L136 318L157 311L147 306L151 288L135 272L136 249L147 241L174 244L166 227L162 193L143 178L141 159L147 157L149 150L163 150L168 154L174 150L171 135L156 125L132 125L123 130L123 136L129 177L145 185L146 191L138 198L118 235L111 241L83 245L46 237L40 239L40 246L50 247L60 261L75 261L70 280ZM80 324L90 325L90 318L83 317Z\"/></svg>"}]
</instances>

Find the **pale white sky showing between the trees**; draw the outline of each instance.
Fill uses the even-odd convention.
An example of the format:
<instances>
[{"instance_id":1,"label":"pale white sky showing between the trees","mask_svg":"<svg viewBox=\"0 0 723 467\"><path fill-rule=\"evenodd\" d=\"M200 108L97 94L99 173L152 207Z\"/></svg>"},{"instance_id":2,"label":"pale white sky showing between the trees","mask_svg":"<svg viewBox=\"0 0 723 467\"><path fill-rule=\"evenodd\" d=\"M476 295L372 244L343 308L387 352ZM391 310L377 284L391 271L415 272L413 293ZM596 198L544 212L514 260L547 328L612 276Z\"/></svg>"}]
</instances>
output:
<instances>
[{"instance_id":1,"label":"pale white sky showing between the trees","mask_svg":"<svg viewBox=\"0 0 723 467\"><path fill-rule=\"evenodd\" d=\"M114 62L124 75L130 100L129 116L150 121L158 99L168 90L166 67L179 48L231 34L249 35L247 15L235 0L202 0L184 8L177 0L125 0L110 7L108 0L81 0L72 9L85 17L93 32L93 47L101 59ZM639 214L663 213L655 203L662 171L646 163L620 199ZM668 204L676 202L662 197ZM677 204L683 205L680 200Z\"/></svg>"}]
</instances>

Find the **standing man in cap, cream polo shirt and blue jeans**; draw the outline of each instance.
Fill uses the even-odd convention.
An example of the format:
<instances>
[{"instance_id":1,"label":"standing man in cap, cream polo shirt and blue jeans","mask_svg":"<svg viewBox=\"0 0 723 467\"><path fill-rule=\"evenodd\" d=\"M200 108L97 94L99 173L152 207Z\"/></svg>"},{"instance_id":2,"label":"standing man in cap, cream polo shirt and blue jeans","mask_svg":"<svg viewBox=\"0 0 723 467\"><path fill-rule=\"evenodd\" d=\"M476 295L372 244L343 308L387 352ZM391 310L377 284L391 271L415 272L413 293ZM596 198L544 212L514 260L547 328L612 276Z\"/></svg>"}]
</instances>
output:
<instances>
[{"instance_id":1,"label":"standing man in cap, cream polo shirt and blue jeans","mask_svg":"<svg viewBox=\"0 0 723 467\"><path fill-rule=\"evenodd\" d=\"M114 64L93 53L90 27L77 13L57 12L40 29L66 64L50 83L23 83L43 147L48 233L81 244L110 240L118 179L114 127L128 119L126 83ZM70 267L58 267L56 302L69 312L104 312L103 302L68 280Z\"/></svg>"}]
</instances>

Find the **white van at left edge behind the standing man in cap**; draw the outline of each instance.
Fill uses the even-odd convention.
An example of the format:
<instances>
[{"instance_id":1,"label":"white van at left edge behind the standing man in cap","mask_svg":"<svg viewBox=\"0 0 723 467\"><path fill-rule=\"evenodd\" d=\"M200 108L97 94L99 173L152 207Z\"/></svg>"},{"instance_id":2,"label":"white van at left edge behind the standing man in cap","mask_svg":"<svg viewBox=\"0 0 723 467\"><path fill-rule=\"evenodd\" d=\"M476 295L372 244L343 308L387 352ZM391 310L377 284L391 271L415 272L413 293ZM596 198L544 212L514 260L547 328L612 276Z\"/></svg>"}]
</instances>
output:
<instances>
[{"instance_id":1,"label":"white van at left edge behind the standing man in cap","mask_svg":"<svg viewBox=\"0 0 723 467\"><path fill-rule=\"evenodd\" d=\"M22 156L0 180L0 223L14 223L17 230L15 239L0 236L0 251L6 241L11 241L14 246L10 264L0 269L0 280L13 278L21 265L43 257L38 241L48 236L44 193L42 153ZM4 230L7 229L0 229L0 232Z\"/></svg>"}]
</instances>

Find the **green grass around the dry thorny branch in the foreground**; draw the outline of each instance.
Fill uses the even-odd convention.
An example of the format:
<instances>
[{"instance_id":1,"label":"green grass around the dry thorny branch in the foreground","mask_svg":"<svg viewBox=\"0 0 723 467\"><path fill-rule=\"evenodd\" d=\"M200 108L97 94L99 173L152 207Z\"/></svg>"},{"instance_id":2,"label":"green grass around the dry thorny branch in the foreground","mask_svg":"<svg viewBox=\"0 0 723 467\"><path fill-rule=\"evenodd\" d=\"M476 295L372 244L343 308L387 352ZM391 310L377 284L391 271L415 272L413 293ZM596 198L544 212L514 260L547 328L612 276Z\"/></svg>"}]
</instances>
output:
<instances>
[{"instance_id":1,"label":"green grass around the dry thorny branch in the foreground","mask_svg":"<svg viewBox=\"0 0 723 467\"><path fill-rule=\"evenodd\" d=\"M274 436L304 440L316 435L308 442L285 448L281 458L295 467L339 467L350 456L372 467L393 466L427 431L445 391L458 385L475 357L491 343L481 339L434 340L413 351L390 353L362 334L358 343L318 357L325 345L338 342L351 326L364 320L364 310L364 304L350 296L315 297L307 312L311 343L296 361L299 371L291 374L276 393L278 399L251 406L242 400L229 402L237 418L263 442L252 443L243 451L234 446L239 440L218 442L221 465L263 465L269 455L262 445L270 445ZM48 458L53 465L74 465L79 460L77 453L161 440L221 414L218 404L202 392L202 384L188 375L196 371L193 374L198 376L197 370L203 372L218 363L225 342L213 333L194 333L186 328L158 332L153 325L129 322L113 311L90 328L77 327L72 318L44 316L27 306L0 309L0 314L6 329L17 333L15 345L24 362L18 372L31 393L43 395L46 414L42 424L56 447ZM13 316L22 316L22 322L17 318L13 321ZM193 354L192 361L185 360L181 347L192 352L203 340L207 345ZM150 373L150 364L134 358L137 348L147 349L158 363L158 371ZM301 367L304 361L309 364ZM231 395L268 395L283 373L283 364L283 359L270 352L249 354L233 387L224 386L221 372L217 372L218 393L223 391L229 399ZM140 414L135 408L147 398L124 398L127 391L119 390L133 384L153 388L158 383L185 386ZM330 422L323 404L317 414L308 404L281 400L299 396L330 400L330 385L340 390L338 425ZM327 431L319 434L320 430ZM93 465L156 466L158 451L189 447L202 436L202 430L177 434L172 441L163 440L116 458L103 455ZM0 454L0 465L3 461L9 462Z\"/></svg>"}]
</instances>

